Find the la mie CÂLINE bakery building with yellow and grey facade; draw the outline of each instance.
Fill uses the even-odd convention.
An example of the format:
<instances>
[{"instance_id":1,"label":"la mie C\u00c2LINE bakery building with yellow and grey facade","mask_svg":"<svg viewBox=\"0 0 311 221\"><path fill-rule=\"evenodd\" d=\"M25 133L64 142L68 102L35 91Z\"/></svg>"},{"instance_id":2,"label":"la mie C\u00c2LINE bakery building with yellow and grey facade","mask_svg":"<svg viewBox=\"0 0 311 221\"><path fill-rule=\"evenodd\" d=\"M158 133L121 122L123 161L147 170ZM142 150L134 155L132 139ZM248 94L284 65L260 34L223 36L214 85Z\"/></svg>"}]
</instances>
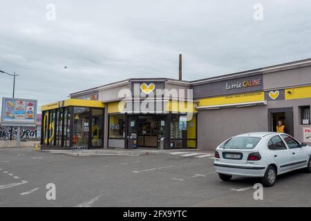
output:
<instances>
[{"instance_id":1,"label":"la mie C\u00c2LINE bakery building with yellow and grey facade","mask_svg":"<svg viewBox=\"0 0 311 221\"><path fill-rule=\"evenodd\" d=\"M241 133L311 144L311 59L196 81L126 79L42 106L42 146L214 150Z\"/></svg>"}]
</instances>

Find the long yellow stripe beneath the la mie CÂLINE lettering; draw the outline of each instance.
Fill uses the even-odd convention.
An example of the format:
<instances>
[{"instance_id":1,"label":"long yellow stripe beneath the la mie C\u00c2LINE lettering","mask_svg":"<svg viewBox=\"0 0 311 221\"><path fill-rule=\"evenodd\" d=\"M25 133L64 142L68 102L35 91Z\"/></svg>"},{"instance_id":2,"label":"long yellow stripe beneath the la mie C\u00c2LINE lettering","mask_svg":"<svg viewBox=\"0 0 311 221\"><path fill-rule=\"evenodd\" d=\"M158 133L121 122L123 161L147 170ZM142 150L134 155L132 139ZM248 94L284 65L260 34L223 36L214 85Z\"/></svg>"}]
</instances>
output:
<instances>
[{"instance_id":1,"label":"long yellow stripe beneath the la mie C\u00c2LINE lettering","mask_svg":"<svg viewBox=\"0 0 311 221\"><path fill-rule=\"evenodd\" d=\"M254 92L246 94L237 94L237 95L227 95L222 97L208 97L199 99L198 106L213 106L213 105L222 105L222 104L241 104L247 102L261 102L265 100L265 93Z\"/></svg>"}]
</instances>

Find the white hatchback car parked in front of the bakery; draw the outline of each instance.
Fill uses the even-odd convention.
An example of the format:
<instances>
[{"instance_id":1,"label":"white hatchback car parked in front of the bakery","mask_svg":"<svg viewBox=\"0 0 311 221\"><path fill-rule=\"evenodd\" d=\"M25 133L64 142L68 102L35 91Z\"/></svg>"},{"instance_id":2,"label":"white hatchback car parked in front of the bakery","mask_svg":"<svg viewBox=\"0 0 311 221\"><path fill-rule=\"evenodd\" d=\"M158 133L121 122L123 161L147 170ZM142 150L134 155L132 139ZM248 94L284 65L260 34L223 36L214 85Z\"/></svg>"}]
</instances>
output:
<instances>
[{"instance_id":1,"label":"white hatchback car parked in front of the bakery","mask_svg":"<svg viewBox=\"0 0 311 221\"><path fill-rule=\"evenodd\" d=\"M276 175L305 168L311 173L311 146L285 133L261 132L234 136L215 151L214 166L221 180L232 175L262 177L273 186Z\"/></svg>"}]
</instances>

